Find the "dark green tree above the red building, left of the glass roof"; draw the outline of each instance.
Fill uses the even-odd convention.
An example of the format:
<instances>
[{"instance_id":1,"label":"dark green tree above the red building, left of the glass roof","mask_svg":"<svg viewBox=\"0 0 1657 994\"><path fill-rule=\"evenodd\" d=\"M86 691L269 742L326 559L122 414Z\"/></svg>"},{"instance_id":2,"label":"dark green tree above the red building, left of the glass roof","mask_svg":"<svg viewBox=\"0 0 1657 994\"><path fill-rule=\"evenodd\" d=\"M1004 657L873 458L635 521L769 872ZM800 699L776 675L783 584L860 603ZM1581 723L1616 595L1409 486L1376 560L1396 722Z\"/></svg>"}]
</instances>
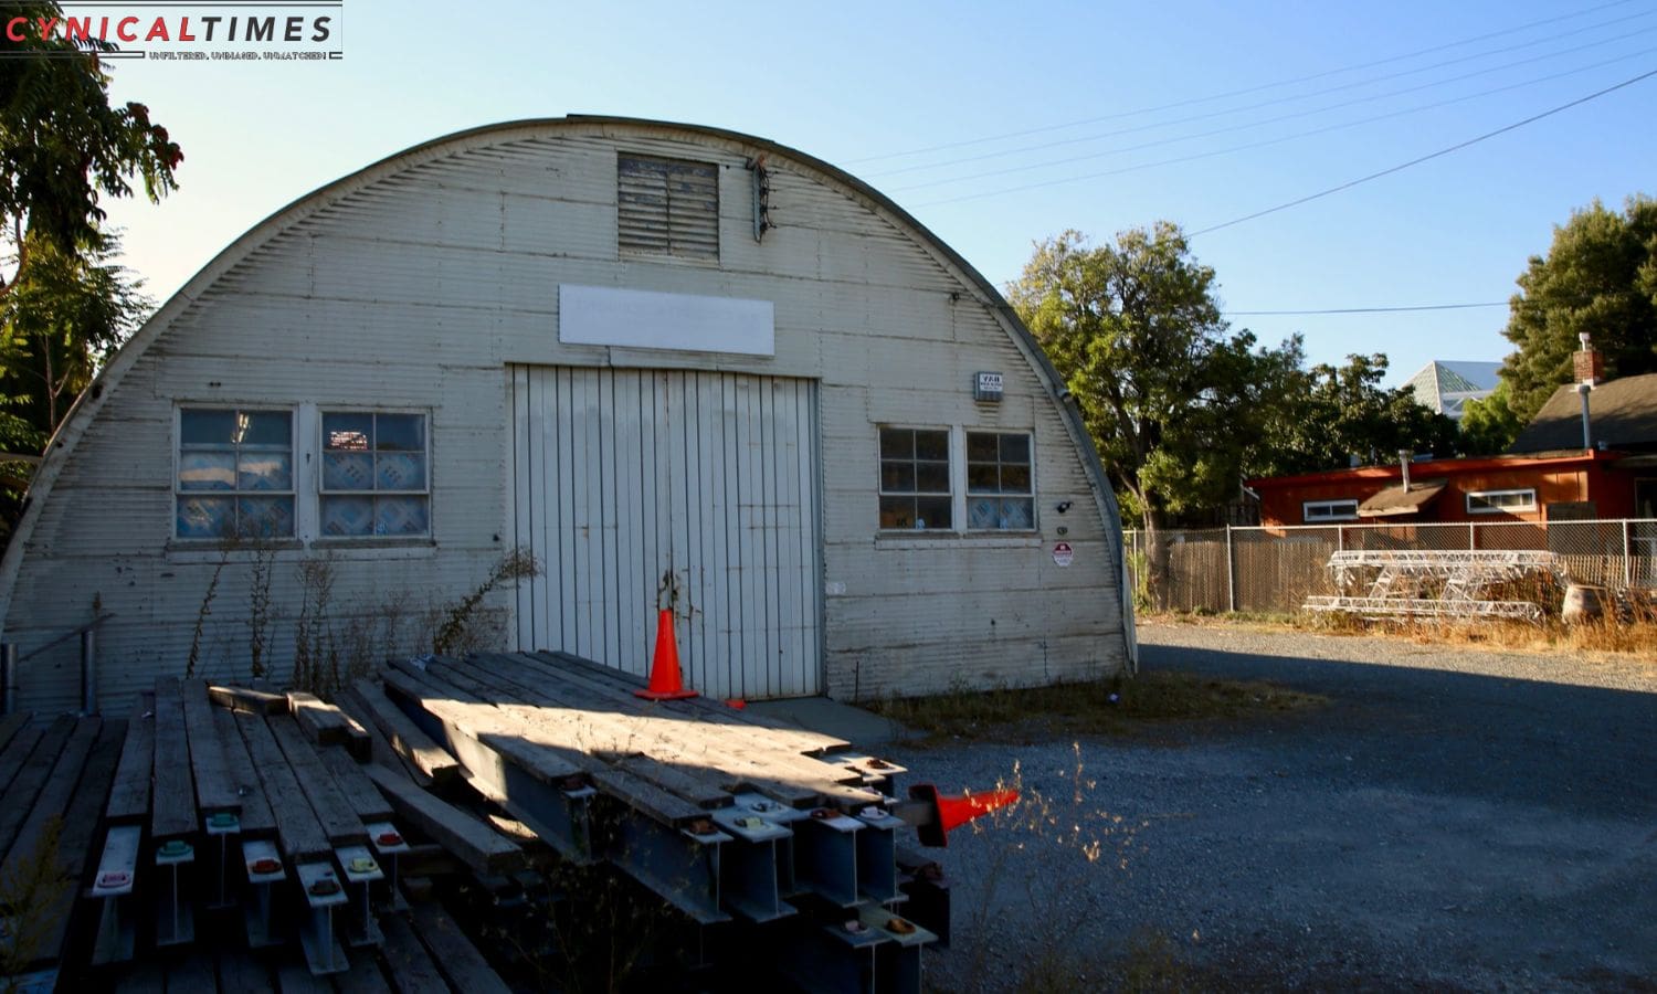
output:
<instances>
[{"instance_id":1,"label":"dark green tree above the red building, left of the glass roof","mask_svg":"<svg viewBox=\"0 0 1657 994\"><path fill-rule=\"evenodd\" d=\"M1408 388L1382 388L1385 374L1387 356L1380 353L1299 373L1251 449L1249 474L1341 469L1352 456L1390 462L1400 449L1453 456L1460 442L1455 421L1418 404Z\"/></svg>"}]
</instances>

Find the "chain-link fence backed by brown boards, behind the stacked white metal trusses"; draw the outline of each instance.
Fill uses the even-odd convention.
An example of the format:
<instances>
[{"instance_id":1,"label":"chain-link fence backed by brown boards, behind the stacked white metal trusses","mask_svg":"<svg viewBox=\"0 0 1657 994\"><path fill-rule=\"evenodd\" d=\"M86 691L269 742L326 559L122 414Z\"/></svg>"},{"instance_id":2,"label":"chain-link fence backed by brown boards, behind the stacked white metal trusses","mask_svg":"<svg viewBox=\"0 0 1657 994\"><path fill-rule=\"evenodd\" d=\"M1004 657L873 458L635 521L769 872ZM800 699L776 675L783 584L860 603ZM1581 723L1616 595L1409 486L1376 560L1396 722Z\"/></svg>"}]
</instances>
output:
<instances>
[{"instance_id":1,"label":"chain-link fence backed by brown boards, behind the stacked white metal trusses","mask_svg":"<svg viewBox=\"0 0 1657 994\"><path fill-rule=\"evenodd\" d=\"M1331 553L1349 550L1551 552L1576 583L1657 588L1657 519L1233 527L1163 537L1167 601L1176 611L1299 611L1307 596L1341 593L1327 565ZM1133 590L1142 590L1145 532L1128 530L1123 543Z\"/></svg>"}]
</instances>

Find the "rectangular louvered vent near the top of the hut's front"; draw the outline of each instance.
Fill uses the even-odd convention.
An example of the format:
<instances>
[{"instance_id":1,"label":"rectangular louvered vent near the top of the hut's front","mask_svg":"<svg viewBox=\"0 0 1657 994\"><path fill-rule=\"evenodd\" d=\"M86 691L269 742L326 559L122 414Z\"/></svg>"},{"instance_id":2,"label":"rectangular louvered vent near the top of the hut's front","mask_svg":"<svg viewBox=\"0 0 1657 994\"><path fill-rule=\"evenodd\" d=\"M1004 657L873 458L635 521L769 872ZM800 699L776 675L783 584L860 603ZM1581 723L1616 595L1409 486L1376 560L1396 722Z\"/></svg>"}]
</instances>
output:
<instances>
[{"instance_id":1,"label":"rectangular louvered vent near the top of the hut's front","mask_svg":"<svg viewBox=\"0 0 1657 994\"><path fill-rule=\"evenodd\" d=\"M616 159L623 253L719 258L719 167L684 159Z\"/></svg>"}]
</instances>

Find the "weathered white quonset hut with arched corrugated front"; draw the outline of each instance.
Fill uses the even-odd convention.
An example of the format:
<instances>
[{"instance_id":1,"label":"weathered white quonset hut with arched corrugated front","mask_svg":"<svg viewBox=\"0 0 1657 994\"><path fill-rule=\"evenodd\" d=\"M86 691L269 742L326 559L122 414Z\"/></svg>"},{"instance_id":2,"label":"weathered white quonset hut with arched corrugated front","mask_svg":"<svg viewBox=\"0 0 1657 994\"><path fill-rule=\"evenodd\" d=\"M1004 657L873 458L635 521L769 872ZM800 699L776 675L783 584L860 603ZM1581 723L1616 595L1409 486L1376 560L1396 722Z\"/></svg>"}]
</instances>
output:
<instances>
[{"instance_id":1,"label":"weathered white quonset hut with arched corrugated front","mask_svg":"<svg viewBox=\"0 0 1657 994\"><path fill-rule=\"evenodd\" d=\"M0 639L35 711L91 625L106 707L192 644L280 679L302 615L389 651L517 548L500 644L643 674L671 605L722 697L1133 664L1115 499L996 288L840 169L615 118L413 147L225 248L53 439Z\"/></svg>"}]
</instances>

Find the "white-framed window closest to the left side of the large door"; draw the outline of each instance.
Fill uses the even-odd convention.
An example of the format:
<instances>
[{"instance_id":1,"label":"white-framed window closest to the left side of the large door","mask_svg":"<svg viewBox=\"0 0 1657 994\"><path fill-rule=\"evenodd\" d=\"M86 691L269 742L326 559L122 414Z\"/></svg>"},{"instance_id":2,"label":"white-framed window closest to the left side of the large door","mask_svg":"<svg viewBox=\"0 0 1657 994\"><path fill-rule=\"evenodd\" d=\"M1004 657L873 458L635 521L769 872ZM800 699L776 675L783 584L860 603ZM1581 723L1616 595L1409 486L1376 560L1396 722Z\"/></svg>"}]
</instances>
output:
<instances>
[{"instance_id":1,"label":"white-framed window closest to the left side of the large door","mask_svg":"<svg viewBox=\"0 0 1657 994\"><path fill-rule=\"evenodd\" d=\"M429 535L428 436L426 414L323 411L321 537Z\"/></svg>"}]
</instances>

